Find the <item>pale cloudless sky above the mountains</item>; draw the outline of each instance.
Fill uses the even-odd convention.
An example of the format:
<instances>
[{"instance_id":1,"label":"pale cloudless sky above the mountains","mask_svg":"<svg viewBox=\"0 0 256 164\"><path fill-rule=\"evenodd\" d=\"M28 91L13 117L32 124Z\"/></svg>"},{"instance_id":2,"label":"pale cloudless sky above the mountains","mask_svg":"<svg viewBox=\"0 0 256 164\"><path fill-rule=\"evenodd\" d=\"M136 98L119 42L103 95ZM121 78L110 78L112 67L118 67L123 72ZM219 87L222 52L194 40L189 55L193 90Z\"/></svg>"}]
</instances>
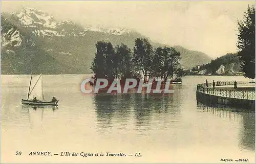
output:
<instances>
[{"instance_id":1,"label":"pale cloudless sky above the mountains","mask_svg":"<svg viewBox=\"0 0 256 164\"><path fill-rule=\"evenodd\" d=\"M1 12L23 7L83 26L135 30L151 40L181 45L212 58L237 52L237 20L254 1L1 1Z\"/></svg>"}]
</instances>

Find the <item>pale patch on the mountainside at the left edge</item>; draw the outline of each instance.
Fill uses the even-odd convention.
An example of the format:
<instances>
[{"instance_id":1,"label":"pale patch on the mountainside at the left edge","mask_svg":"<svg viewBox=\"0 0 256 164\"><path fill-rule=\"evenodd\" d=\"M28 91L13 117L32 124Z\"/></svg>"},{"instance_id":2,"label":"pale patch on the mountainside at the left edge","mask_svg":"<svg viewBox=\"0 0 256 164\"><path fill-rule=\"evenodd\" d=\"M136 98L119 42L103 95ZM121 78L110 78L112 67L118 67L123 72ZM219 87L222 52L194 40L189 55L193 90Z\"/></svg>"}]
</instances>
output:
<instances>
[{"instance_id":1,"label":"pale patch on the mountainside at the left edge","mask_svg":"<svg viewBox=\"0 0 256 164\"><path fill-rule=\"evenodd\" d=\"M22 44L22 38L17 30L11 28L7 33L3 33L1 36L1 46L4 48L7 45L20 46Z\"/></svg>"}]
</instances>

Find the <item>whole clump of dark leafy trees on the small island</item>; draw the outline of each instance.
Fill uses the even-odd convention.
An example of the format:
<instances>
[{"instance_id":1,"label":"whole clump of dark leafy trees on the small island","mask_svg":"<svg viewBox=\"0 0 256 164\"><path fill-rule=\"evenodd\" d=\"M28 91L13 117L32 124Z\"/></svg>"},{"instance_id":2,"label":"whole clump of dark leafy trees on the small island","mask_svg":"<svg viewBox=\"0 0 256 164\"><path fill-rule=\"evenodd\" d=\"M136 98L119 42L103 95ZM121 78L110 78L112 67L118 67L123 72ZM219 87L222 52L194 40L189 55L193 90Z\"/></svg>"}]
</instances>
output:
<instances>
[{"instance_id":1,"label":"whole clump of dark leafy trees on the small island","mask_svg":"<svg viewBox=\"0 0 256 164\"><path fill-rule=\"evenodd\" d=\"M97 52L91 70L95 78L137 78L146 81L149 78L172 78L176 80L184 76L180 65L180 53L172 47L164 46L153 50L145 38L137 38L133 52L127 45L115 46L111 42L98 41Z\"/></svg>"}]
</instances>

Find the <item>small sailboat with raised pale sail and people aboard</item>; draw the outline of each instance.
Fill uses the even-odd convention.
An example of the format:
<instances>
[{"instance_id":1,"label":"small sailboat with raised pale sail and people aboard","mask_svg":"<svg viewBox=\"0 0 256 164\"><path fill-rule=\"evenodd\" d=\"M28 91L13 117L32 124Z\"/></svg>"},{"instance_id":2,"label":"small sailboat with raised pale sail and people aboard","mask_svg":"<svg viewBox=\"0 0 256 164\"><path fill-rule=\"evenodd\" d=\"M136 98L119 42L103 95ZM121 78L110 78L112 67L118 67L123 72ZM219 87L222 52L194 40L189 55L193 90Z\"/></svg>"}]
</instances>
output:
<instances>
[{"instance_id":1,"label":"small sailboat with raised pale sail and people aboard","mask_svg":"<svg viewBox=\"0 0 256 164\"><path fill-rule=\"evenodd\" d=\"M36 97L36 101L33 100L33 98ZM41 101L42 100L42 101ZM56 100L55 102L53 101L44 101L44 94L42 91L42 74L37 75L36 77L33 77L32 80L32 75L30 78L30 83L29 83L29 91L28 91L28 98L27 100L22 99L22 104L25 105L44 105L44 106L58 106L58 100Z\"/></svg>"}]
</instances>

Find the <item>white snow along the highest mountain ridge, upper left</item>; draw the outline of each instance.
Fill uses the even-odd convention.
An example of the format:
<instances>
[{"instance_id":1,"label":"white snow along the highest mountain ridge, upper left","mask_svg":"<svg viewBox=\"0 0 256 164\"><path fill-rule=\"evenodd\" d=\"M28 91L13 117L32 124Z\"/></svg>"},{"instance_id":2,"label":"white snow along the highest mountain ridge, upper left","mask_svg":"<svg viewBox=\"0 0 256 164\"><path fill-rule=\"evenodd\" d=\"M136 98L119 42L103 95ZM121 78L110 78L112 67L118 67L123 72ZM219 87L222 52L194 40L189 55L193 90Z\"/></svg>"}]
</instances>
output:
<instances>
[{"instance_id":1,"label":"white snow along the highest mountain ridge, upper left","mask_svg":"<svg viewBox=\"0 0 256 164\"><path fill-rule=\"evenodd\" d=\"M130 30L123 28L98 28L93 26L82 27L83 30L77 33L67 33L65 32L66 27L76 26L72 21L57 21L52 15L45 12L38 11L33 8L23 8L18 14L16 14L20 22L25 27L37 28L33 33L37 36L84 36L87 31L100 32L105 34L122 35L130 33ZM39 28L39 30L38 30ZM45 30L46 28L47 30ZM61 29L59 32L54 31L56 29ZM75 31L75 29L73 29Z\"/></svg>"}]
</instances>

